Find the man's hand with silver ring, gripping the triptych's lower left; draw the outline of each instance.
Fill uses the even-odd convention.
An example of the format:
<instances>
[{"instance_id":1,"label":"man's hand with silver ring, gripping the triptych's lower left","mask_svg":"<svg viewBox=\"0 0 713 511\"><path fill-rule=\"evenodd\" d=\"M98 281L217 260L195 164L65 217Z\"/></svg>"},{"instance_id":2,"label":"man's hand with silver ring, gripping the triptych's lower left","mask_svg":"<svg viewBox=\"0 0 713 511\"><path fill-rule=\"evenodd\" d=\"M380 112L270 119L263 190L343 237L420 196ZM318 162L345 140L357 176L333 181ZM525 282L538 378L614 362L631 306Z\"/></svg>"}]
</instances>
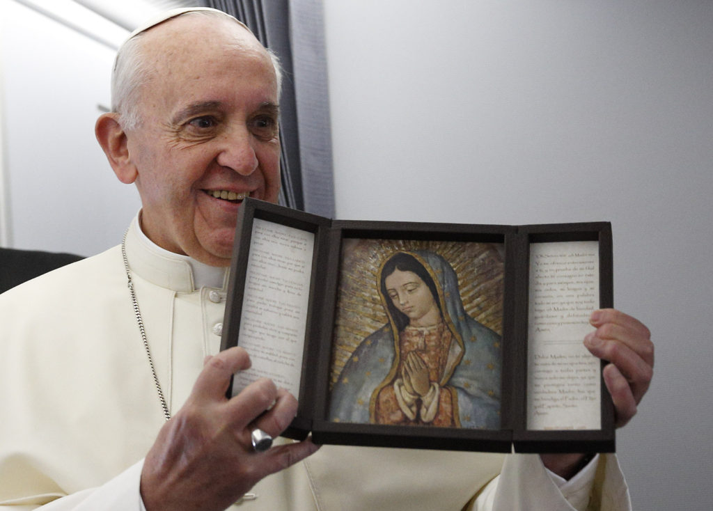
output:
<instances>
[{"instance_id":1,"label":"man's hand with silver ring, gripping the triptych's lower left","mask_svg":"<svg viewBox=\"0 0 713 511\"><path fill-rule=\"evenodd\" d=\"M251 431L277 437L294 418L297 400L267 378L228 400L230 376L249 367L239 347L206 358L185 405L146 455L141 497L147 511L225 510L266 475L317 450L309 439L265 453L252 449Z\"/></svg>"}]
</instances>

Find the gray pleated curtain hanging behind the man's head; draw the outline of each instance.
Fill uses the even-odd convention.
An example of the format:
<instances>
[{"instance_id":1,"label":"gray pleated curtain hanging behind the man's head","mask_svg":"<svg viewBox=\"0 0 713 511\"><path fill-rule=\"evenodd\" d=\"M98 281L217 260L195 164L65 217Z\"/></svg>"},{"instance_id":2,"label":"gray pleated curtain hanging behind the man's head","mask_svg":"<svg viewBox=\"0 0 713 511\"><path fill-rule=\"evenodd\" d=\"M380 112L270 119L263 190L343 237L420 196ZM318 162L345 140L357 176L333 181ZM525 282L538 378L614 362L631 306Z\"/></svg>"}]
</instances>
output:
<instances>
[{"instance_id":1,"label":"gray pleated curtain hanging behind the man's head","mask_svg":"<svg viewBox=\"0 0 713 511\"><path fill-rule=\"evenodd\" d=\"M207 0L250 27L279 57L280 203L334 217L329 96L321 0Z\"/></svg>"}]
</instances>

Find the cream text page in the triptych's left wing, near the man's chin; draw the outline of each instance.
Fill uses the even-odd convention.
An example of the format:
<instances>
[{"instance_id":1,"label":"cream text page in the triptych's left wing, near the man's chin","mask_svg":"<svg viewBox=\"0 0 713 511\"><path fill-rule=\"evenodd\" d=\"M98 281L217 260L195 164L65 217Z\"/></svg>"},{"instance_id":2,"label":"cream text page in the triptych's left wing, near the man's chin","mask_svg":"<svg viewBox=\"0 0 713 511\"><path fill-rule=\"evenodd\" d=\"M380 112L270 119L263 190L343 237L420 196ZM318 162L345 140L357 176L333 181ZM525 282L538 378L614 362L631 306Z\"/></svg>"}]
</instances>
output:
<instances>
[{"instance_id":1,"label":"cream text page in the triptych's left wing, near the man's chin","mask_svg":"<svg viewBox=\"0 0 713 511\"><path fill-rule=\"evenodd\" d=\"M233 381L233 395L267 377L299 398L314 233L255 219L245 276L238 346L252 367Z\"/></svg>"}]
</instances>

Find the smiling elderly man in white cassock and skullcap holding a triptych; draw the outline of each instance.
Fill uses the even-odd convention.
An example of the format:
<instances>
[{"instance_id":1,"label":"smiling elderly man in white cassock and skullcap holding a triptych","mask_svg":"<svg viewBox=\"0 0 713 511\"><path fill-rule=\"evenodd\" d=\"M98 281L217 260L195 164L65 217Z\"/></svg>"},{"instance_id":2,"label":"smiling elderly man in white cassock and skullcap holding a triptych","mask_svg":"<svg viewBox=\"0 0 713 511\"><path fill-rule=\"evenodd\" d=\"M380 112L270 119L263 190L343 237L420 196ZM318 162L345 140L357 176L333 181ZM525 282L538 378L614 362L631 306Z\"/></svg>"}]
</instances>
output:
<instances>
[{"instance_id":1,"label":"smiling elderly man in white cassock and skullcap holding a triptych","mask_svg":"<svg viewBox=\"0 0 713 511\"><path fill-rule=\"evenodd\" d=\"M278 98L275 58L220 11L172 11L120 49L96 135L143 207L118 247L0 297L0 508L629 509L608 455L253 447L297 403L269 380L227 400L250 358L218 353L216 327L240 202L277 200ZM612 310L592 324L622 425L649 332Z\"/></svg>"}]
</instances>

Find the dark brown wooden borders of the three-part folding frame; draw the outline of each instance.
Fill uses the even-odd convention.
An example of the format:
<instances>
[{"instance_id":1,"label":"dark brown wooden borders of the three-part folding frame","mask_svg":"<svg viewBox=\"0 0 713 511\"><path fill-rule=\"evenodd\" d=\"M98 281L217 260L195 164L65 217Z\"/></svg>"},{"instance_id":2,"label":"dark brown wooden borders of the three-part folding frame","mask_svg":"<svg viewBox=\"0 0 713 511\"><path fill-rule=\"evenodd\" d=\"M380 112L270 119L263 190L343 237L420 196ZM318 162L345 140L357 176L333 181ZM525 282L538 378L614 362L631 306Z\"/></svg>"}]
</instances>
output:
<instances>
[{"instance_id":1,"label":"dark brown wooden borders of the three-part folding frame","mask_svg":"<svg viewBox=\"0 0 713 511\"><path fill-rule=\"evenodd\" d=\"M299 408L285 435L316 443L374 445L402 448L479 450L493 452L560 453L612 452L615 448L614 411L601 382L601 430L535 431L526 429L527 324L529 243L597 240L600 247L600 306L612 305L612 244L608 222L548 225L437 224L329 220L258 200L240 208L235 234L221 349L238 343L240 311L252 221L255 218L297 227L315 234L312 284ZM501 429L430 428L327 420L332 334L339 282L342 240L427 239L453 242L493 242L505 247L502 335ZM233 312L235 311L235 312ZM603 365L603 363L602 363ZM601 378L600 378L601 379ZM228 391L230 397L230 391Z\"/></svg>"}]
</instances>

